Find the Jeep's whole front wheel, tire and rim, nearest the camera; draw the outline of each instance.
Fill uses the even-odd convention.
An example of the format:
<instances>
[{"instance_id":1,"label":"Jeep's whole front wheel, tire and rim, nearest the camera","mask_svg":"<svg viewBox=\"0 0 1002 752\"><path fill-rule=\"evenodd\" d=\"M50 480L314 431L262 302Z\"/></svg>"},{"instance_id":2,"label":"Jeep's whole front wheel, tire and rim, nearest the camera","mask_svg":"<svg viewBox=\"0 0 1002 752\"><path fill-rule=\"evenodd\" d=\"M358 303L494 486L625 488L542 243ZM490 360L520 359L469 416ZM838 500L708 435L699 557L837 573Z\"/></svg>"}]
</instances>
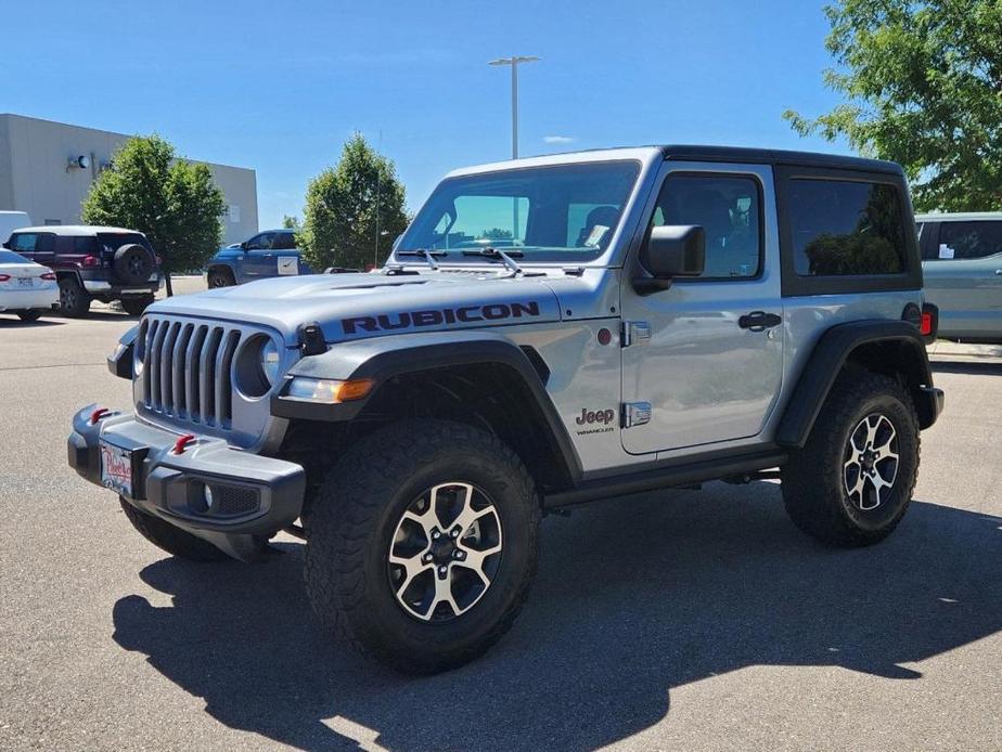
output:
<instances>
[{"instance_id":1,"label":"Jeep's whole front wheel, tire and rim, nearest the camera","mask_svg":"<svg viewBox=\"0 0 1002 752\"><path fill-rule=\"evenodd\" d=\"M310 601L398 671L457 667L515 620L539 517L531 477L497 438L444 420L390 426L345 454L312 500Z\"/></svg>"}]
</instances>

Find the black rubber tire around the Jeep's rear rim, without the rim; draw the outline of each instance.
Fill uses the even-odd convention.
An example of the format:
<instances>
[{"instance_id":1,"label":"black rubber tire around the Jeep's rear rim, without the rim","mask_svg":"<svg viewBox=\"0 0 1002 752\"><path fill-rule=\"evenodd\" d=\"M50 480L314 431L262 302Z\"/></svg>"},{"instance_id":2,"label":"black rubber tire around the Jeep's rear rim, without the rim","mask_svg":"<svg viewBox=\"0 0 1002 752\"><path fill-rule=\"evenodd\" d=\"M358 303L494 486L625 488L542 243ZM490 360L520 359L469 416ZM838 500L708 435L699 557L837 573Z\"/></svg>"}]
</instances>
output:
<instances>
[{"instance_id":1,"label":"black rubber tire around the Jeep's rear rim, without the rim","mask_svg":"<svg viewBox=\"0 0 1002 752\"><path fill-rule=\"evenodd\" d=\"M849 437L870 415L884 415L897 432L898 465L886 502L863 511L846 490ZM804 449L782 470L783 503L800 530L824 543L866 546L887 537L903 517L919 474L919 416L894 378L845 372L835 381Z\"/></svg>"}]
</instances>

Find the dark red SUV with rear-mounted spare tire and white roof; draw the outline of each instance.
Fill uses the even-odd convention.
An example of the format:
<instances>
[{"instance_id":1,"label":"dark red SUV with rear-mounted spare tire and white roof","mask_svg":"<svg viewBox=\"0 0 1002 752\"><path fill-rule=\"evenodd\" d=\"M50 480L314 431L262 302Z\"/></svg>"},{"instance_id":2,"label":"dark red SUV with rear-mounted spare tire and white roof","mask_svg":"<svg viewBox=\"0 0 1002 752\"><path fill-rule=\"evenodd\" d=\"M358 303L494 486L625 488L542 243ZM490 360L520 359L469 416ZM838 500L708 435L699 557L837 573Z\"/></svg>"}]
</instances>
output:
<instances>
[{"instance_id":1,"label":"dark red SUV with rear-mounted spare tire and white roof","mask_svg":"<svg viewBox=\"0 0 1002 752\"><path fill-rule=\"evenodd\" d=\"M60 310L80 319L91 300L118 300L139 315L160 285L159 259L141 232L93 225L21 228L4 248L55 272Z\"/></svg>"}]
</instances>

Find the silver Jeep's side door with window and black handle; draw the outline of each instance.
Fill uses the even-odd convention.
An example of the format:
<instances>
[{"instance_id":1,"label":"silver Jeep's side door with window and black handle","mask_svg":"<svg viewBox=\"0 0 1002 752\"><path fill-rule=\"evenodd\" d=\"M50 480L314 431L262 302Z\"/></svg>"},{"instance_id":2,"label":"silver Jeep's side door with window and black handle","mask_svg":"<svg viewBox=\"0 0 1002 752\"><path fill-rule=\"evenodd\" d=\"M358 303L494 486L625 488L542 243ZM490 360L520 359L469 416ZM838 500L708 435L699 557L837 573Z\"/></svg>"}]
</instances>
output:
<instances>
[{"instance_id":1,"label":"silver Jeep's side door with window and black handle","mask_svg":"<svg viewBox=\"0 0 1002 752\"><path fill-rule=\"evenodd\" d=\"M633 336L622 350L622 400L640 417L624 427L622 446L698 451L755 437L783 375L772 170L666 163L648 210L648 226L702 225L706 262L701 276L646 295L624 276L624 326Z\"/></svg>"}]
</instances>

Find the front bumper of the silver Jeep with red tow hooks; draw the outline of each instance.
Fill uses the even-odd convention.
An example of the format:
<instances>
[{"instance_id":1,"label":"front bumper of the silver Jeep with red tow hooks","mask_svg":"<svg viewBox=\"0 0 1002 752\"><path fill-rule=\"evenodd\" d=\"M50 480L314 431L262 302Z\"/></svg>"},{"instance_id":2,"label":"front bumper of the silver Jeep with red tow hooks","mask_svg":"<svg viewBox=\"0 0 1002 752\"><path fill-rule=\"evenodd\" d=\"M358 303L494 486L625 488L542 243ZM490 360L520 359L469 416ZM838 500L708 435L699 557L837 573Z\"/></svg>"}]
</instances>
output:
<instances>
[{"instance_id":1,"label":"front bumper of the silver Jeep with red tow hooks","mask_svg":"<svg viewBox=\"0 0 1002 752\"><path fill-rule=\"evenodd\" d=\"M100 443L132 457L129 504L205 539L240 559L256 557L261 541L294 522L303 509L306 472L295 463L232 449L222 439L196 437L180 454L181 436L139 420L108 415L91 423L95 405L73 419L67 439L69 466L97 485ZM205 489L213 506L206 504Z\"/></svg>"}]
</instances>

